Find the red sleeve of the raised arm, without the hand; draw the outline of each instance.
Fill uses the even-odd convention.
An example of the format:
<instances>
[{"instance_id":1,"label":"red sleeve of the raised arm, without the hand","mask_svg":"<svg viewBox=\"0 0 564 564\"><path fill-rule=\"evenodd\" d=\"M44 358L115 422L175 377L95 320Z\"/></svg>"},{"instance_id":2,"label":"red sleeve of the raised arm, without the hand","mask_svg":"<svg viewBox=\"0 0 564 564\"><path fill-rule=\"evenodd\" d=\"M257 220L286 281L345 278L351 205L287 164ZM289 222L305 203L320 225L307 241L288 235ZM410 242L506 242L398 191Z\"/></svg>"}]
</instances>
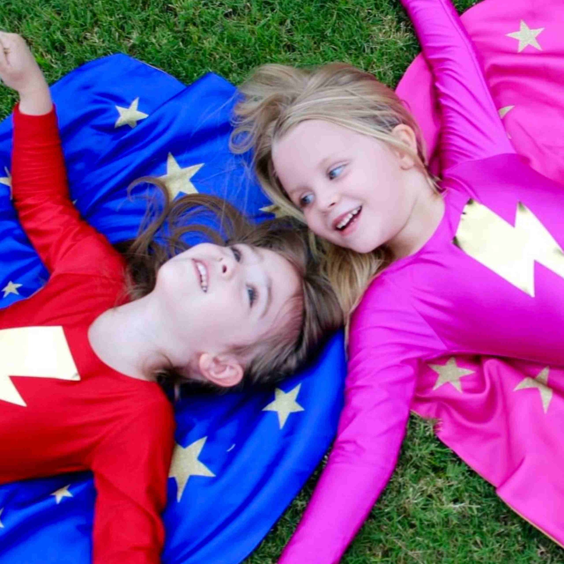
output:
<instances>
[{"instance_id":1,"label":"red sleeve of the raised arm, without the hand","mask_svg":"<svg viewBox=\"0 0 564 564\"><path fill-rule=\"evenodd\" d=\"M21 226L50 272L97 271L106 255L117 256L69 199L55 109L43 116L14 109L12 196Z\"/></svg>"}]
</instances>

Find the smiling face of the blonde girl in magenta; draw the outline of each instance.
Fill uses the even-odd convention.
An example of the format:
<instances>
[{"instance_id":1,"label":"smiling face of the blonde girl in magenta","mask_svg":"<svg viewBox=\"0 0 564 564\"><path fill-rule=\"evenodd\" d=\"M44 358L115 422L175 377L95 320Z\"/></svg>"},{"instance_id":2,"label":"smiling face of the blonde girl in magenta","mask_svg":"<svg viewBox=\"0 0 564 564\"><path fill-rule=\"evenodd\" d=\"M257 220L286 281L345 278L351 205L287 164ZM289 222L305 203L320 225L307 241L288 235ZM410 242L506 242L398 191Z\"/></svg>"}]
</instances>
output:
<instances>
[{"instance_id":1,"label":"smiling face of the blonde girl in magenta","mask_svg":"<svg viewBox=\"0 0 564 564\"><path fill-rule=\"evenodd\" d=\"M294 127L272 147L284 190L309 228L332 243L368 253L390 243L415 204L406 157L385 143L322 120ZM407 167L407 168L406 168Z\"/></svg>"}]
</instances>

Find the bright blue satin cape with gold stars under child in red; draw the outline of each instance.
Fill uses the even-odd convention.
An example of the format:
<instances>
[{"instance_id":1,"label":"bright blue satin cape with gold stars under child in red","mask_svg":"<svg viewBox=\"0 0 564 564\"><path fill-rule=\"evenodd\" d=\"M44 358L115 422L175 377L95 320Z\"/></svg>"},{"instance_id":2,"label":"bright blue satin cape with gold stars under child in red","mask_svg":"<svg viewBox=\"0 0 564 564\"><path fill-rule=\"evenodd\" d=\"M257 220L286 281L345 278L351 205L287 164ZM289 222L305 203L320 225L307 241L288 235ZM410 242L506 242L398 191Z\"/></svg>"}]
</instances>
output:
<instances>
[{"instance_id":1,"label":"bright blue satin cape with gold stars under child in red","mask_svg":"<svg viewBox=\"0 0 564 564\"><path fill-rule=\"evenodd\" d=\"M203 164L191 178L200 193L226 197L254 219L268 217L260 210L268 201L245 161L228 150L235 92L215 74L186 87L125 55L92 61L56 83L70 193L83 217L113 243L135 236L145 201L127 199L126 187L143 175L166 174L169 153L181 168ZM116 106L127 108L135 98L148 117L115 127ZM30 296L48 277L11 205L10 151L7 118L0 124L0 290L21 285L0 293L0 307ZM283 426L276 412L264 411L274 390L192 395L175 404L177 442L188 447L205 438L198 460L214 475L192 475L182 496L169 478L164 562L235 564L252 552L331 443L344 376L337 334L314 365L279 385L297 393L303 408ZM67 485L68 495L52 495ZM1 486L0 561L90 562L94 499L89 473Z\"/></svg>"}]
</instances>

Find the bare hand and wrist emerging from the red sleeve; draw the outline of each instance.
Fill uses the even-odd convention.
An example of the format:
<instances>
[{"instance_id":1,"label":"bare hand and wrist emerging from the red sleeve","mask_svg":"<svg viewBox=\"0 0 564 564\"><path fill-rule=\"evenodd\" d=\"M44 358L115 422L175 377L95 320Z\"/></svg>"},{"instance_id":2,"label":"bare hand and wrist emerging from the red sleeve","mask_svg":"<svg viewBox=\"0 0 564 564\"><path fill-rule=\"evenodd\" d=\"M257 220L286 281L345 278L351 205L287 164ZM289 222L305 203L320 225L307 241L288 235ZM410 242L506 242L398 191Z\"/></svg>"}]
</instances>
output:
<instances>
[{"instance_id":1,"label":"bare hand and wrist emerging from the red sleeve","mask_svg":"<svg viewBox=\"0 0 564 564\"><path fill-rule=\"evenodd\" d=\"M49 113L51 95L36 60L23 37L0 32L0 79L20 95L20 111Z\"/></svg>"}]
</instances>

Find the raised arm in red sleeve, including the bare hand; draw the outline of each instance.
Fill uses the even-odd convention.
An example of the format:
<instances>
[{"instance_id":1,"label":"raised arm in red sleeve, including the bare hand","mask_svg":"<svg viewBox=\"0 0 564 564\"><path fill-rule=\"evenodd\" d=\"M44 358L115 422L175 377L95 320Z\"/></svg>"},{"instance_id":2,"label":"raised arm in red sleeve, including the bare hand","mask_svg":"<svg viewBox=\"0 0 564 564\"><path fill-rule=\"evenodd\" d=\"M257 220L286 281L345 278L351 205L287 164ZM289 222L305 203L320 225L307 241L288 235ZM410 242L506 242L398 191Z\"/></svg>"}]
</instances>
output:
<instances>
[{"instance_id":1,"label":"raised arm in red sleeve, including the bare hand","mask_svg":"<svg viewBox=\"0 0 564 564\"><path fill-rule=\"evenodd\" d=\"M20 95L14 109L12 198L21 226L50 272L98 267L92 244L102 255L114 251L81 220L69 199L49 88L24 40L15 34L0 32L0 78ZM86 241L88 253L83 252Z\"/></svg>"}]
</instances>

